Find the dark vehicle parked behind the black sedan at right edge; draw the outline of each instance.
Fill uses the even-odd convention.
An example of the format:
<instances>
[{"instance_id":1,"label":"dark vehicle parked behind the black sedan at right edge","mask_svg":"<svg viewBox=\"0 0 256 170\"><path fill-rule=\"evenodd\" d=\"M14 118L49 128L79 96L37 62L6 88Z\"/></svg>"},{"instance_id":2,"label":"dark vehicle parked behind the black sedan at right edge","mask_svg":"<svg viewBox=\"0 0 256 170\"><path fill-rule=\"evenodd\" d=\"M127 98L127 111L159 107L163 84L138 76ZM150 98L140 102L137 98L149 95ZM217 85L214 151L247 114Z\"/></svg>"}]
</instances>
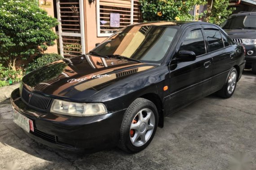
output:
<instances>
[{"instance_id":1,"label":"dark vehicle parked behind the black sedan at right edge","mask_svg":"<svg viewBox=\"0 0 256 170\"><path fill-rule=\"evenodd\" d=\"M234 42L242 43L246 50L246 68L256 74L256 12L241 12L230 16L221 28Z\"/></svg>"}]
</instances>

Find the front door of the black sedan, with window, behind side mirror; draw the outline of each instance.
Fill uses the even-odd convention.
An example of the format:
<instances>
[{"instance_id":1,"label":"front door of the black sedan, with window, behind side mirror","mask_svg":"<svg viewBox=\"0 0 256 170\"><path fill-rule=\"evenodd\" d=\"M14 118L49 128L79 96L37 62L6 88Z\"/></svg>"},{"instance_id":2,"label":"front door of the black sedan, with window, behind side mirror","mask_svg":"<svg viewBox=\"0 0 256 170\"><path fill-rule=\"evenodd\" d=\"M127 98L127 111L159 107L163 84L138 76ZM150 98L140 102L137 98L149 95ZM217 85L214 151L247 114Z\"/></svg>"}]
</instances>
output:
<instances>
[{"instance_id":1,"label":"front door of the black sedan, with window, behind side mirror","mask_svg":"<svg viewBox=\"0 0 256 170\"><path fill-rule=\"evenodd\" d=\"M177 53L170 64L172 111L205 96L211 88L212 57L207 54L201 28L200 25L195 25L185 29L177 44ZM175 63L175 58L181 50L194 51L196 60Z\"/></svg>"}]
</instances>

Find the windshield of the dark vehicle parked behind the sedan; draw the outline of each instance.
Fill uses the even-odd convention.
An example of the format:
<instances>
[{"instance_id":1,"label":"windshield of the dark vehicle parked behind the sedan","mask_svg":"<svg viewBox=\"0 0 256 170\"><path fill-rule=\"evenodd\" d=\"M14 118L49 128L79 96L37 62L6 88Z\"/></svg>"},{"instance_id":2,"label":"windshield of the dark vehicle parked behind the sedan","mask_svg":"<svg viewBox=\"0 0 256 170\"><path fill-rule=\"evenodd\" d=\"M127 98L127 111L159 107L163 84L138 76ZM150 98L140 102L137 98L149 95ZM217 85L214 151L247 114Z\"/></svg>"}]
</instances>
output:
<instances>
[{"instance_id":1,"label":"windshield of the dark vehicle parked behind the sedan","mask_svg":"<svg viewBox=\"0 0 256 170\"><path fill-rule=\"evenodd\" d=\"M228 18L221 28L256 28L256 15L237 15Z\"/></svg>"}]
</instances>

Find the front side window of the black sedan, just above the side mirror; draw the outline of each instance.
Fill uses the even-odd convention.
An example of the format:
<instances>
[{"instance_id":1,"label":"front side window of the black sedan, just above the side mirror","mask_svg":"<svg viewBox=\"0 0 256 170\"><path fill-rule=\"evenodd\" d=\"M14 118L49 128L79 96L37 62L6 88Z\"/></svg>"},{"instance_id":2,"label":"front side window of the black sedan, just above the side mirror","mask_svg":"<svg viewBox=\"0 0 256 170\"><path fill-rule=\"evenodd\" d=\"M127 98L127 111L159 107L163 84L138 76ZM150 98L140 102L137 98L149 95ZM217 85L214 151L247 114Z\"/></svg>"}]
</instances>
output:
<instances>
[{"instance_id":1,"label":"front side window of the black sedan, just above the side mirror","mask_svg":"<svg viewBox=\"0 0 256 170\"><path fill-rule=\"evenodd\" d=\"M181 44L180 51L181 50L193 51L196 56L205 54L206 49L202 31L192 30L187 32Z\"/></svg>"}]
</instances>

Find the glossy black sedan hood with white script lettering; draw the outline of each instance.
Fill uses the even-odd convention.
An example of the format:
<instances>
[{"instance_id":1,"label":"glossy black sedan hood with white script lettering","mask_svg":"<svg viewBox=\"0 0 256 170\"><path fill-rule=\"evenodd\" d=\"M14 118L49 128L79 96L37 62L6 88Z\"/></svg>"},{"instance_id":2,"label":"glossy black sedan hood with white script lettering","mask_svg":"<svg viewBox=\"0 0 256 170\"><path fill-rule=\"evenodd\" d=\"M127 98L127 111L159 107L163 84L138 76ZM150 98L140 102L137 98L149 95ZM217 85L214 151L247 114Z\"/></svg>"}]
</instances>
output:
<instances>
[{"instance_id":1,"label":"glossy black sedan hood with white script lettering","mask_svg":"<svg viewBox=\"0 0 256 170\"><path fill-rule=\"evenodd\" d=\"M36 69L23 77L22 84L47 96L79 101L128 76L154 67L155 64L80 55Z\"/></svg>"}]
</instances>

